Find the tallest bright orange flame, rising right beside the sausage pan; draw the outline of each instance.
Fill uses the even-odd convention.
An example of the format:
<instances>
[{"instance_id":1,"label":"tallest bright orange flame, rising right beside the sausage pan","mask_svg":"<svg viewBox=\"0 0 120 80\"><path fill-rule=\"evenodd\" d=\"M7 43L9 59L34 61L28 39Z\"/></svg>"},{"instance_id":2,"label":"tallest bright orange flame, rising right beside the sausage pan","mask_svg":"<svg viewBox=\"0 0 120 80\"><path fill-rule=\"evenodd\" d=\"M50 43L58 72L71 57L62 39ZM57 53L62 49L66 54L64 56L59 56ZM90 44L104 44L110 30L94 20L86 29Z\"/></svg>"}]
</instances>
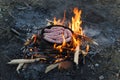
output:
<instances>
[{"instance_id":1,"label":"tallest bright orange flame, rising right beside the sausage pan","mask_svg":"<svg viewBox=\"0 0 120 80\"><path fill-rule=\"evenodd\" d=\"M81 20L81 10L78 10L78 8L74 8L73 9L73 13L74 13L74 17L72 17L72 22L69 22L69 28L72 29L72 31L74 32L74 34L72 35L72 45L73 45L73 49L75 50L75 48L79 45L80 46L80 39L77 38L77 35L83 35L83 31L82 31L82 20Z\"/></svg>"}]
</instances>

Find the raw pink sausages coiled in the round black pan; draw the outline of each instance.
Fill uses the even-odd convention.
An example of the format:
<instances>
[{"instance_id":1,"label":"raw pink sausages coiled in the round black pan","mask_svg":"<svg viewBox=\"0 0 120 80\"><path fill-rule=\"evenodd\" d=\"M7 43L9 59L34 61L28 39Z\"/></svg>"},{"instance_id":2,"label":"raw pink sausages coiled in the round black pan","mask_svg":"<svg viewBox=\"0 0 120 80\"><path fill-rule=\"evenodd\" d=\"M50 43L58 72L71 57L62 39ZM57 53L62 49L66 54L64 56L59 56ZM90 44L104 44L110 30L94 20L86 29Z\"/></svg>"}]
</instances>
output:
<instances>
[{"instance_id":1,"label":"raw pink sausages coiled in the round black pan","mask_svg":"<svg viewBox=\"0 0 120 80\"><path fill-rule=\"evenodd\" d=\"M66 42L70 42L72 32L67 28L57 26L44 29L43 38L48 42L61 44L63 42L63 36Z\"/></svg>"}]
</instances>

